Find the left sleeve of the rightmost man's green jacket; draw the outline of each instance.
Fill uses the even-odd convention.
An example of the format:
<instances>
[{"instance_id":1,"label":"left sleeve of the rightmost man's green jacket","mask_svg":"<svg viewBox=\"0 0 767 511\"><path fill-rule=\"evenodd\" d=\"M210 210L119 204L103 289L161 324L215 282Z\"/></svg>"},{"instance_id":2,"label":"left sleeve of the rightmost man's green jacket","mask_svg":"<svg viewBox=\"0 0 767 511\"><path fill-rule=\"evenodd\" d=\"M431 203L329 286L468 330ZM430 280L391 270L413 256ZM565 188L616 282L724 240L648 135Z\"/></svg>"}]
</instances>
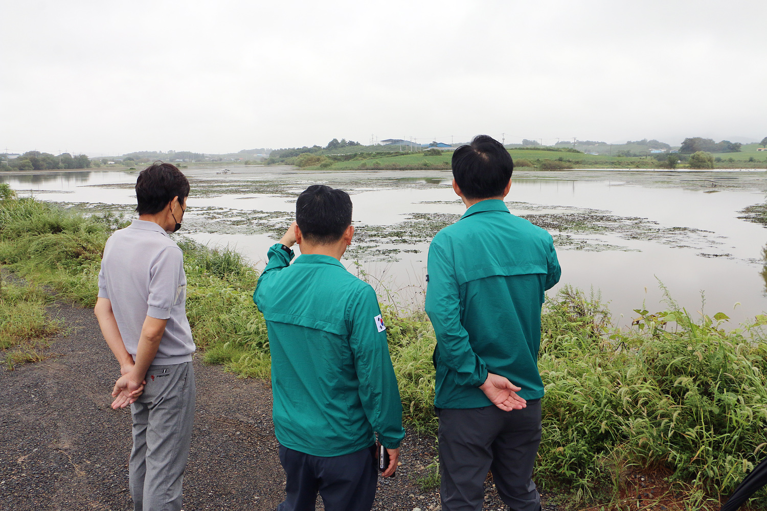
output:
<instances>
[{"instance_id":1,"label":"left sleeve of the rightmost man's green jacket","mask_svg":"<svg viewBox=\"0 0 767 511\"><path fill-rule=\"evenodd\" d=\"M487 365L472 349L469 332L461 324L460 290L453 264L433 242L427 267L426 313L434 326L439 362L456 373L458 385L479 387L487 379Z\"/></svg>"}]
</instances>

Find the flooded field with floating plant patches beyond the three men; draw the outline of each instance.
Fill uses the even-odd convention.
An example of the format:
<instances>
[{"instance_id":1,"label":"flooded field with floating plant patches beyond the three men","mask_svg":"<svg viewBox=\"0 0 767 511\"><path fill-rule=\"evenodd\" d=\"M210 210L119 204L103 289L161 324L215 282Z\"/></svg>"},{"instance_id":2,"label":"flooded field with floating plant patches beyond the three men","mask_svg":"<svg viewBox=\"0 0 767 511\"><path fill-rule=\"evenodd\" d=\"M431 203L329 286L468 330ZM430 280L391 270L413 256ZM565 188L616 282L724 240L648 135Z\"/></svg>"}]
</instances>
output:
<instances>
[{"instance_id":1,"label":"flooded field with floating plant patches beyond the three men","mask_svg":"<svg viewBox=\"0 0 767 511\"><path fill-rule=\"evenodd\" d=\"M356 228L344 264L367 274L385 299L403 306L423 300L431 237L465 211L450 187L449 171L237 166L230 175L217 175L217 170L183 169L192 194L179 234L236 247L262 267L268 247L293 218L298 193L315 183L344 188L352 195ZM136 175L4 174L0 182L20 195L132 216ZM554 236L559 285L601 292L614 316L624 315L621 323L636 316L634 309L663 308L659 282L687 310L721 311L737 322L767 310L767 229L738 218L744 208L765 201L765 177L765 172L520 169L507 204Z\"/></svg>"}]
</instances>

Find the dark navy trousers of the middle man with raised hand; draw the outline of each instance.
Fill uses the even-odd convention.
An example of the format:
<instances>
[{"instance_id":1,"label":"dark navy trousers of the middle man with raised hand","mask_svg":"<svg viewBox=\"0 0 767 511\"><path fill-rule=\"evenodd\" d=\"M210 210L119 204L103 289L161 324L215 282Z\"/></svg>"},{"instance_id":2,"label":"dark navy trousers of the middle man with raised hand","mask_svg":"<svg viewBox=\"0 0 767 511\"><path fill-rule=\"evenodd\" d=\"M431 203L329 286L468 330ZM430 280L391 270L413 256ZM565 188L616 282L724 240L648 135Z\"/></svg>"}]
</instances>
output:
<instances>
[{"instance_id":1,"label":"dark navy trousers of the middle man with raised hand","mask_svg":"<svg viewBox=\"0 0 767 511\"><path fill-rule=\"evenodd\" d=\"M314 511L317 493L326 511L370 511L376 496L375 446L341 456L312 456L280 446L285 501L277 511Z\"/></svg>"}]
</instances>

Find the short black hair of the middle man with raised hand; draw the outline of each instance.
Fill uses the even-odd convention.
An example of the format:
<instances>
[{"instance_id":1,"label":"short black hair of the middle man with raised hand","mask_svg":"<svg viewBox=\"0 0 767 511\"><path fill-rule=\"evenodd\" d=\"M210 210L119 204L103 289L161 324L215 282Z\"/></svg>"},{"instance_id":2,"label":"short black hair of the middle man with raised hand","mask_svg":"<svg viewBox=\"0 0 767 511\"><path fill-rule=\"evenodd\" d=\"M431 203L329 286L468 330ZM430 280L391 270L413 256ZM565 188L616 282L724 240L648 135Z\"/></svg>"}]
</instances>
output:
<instances>
[{"instance_id":1,"label":"short black hair of the middle man with raised hand","mask_svg":"<svg viewBox=\"0 0 767 511\"><path fill-rule=\"evenodd\" d=\"M311 185L298 195L295 221L307 241L334 243L351 225L351 198L341 188Z\"/></svg>"}]
</instances>

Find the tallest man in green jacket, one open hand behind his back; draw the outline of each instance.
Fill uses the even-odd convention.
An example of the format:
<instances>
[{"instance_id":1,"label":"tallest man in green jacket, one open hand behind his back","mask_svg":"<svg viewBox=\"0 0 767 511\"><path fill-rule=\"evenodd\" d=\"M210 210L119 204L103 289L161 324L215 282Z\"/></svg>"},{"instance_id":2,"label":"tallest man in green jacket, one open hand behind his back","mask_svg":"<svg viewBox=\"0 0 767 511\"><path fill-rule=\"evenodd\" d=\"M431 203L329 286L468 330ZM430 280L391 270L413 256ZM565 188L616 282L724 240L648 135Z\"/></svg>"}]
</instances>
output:
<instances>
[{"instance_id":1,"label":"tallest man in green jacket, one open hand behind his back","mask_svg":"<svg viewBox=\"0 0 767 511\"><path fill-rule=\"evenodd\" d=\"M506 208L514 164L498 141L476 136L452 166L467 209L434 237L426 290L437 340L439 494L445 511L482 509L492 470L504 503L538 511L541 306L559 280L557 254L548 232Z\"/></svg>"}]
</instances>

